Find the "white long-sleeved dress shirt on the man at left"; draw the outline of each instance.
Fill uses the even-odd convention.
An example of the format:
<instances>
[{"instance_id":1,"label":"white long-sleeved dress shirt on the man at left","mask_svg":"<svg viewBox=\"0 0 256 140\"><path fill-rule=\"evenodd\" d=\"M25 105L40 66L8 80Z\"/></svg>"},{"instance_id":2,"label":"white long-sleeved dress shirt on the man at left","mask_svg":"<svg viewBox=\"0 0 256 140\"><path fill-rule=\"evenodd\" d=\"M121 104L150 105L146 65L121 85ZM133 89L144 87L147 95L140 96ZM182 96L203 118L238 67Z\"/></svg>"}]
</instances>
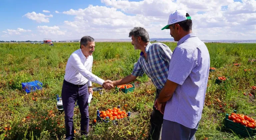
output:
<instances>
[{"instance_id":1,"label":"white long-sleeved dress shirt on the man at left","mask_svg":"<svg viewBox=\"0 0 256 140\"><path fill-rule=\"evenodd\" d=\"M102 85L104 80L92 74L93 56L86 58L81 49L73 52L67 62L64 79L75 85L92 86L92 82Z\"/></svg>"}]
</instances>

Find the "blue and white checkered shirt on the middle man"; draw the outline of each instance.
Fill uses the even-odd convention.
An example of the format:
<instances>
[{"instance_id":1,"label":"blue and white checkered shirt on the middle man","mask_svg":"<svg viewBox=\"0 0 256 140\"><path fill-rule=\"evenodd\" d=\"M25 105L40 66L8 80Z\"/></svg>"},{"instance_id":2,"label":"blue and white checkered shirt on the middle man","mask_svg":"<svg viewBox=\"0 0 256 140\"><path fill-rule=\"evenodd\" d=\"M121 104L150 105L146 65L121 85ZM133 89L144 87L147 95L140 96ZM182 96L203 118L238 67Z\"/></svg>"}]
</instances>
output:
<instances>
[{"instance_id":1,"label":"blue and white checkered shirt on the middle man","mask_svg":"<svg viewBox=\"0 0 256 140\"><path fill-rule=\"evenodd\" d=\"M157 89L162 89L166 83L172 51L163 43L148 43L146 46L147 60L140 53L140 58L134 64L132 75L142 76L144 72L152 80Z\"/></svg>"}]
</instances>

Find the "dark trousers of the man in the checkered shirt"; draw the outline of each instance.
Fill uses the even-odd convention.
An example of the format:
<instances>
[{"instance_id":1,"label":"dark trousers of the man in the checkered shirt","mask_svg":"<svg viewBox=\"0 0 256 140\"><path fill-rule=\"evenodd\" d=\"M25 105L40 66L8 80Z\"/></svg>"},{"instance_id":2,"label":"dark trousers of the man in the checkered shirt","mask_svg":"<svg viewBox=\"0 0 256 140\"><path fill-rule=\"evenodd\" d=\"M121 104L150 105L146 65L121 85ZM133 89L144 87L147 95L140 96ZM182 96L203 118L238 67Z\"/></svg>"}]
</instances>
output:
<instances>
[{"instance_id":1,"label":"dark trousers of the man in the checkered shirt","mask_svg":"<svg viewBox=\"0 0 256 140\"><path fill-rule=\"evenodd\" d=\"M155 100L158 98L160 91L161 90L159 89L156 90ZM155 106L153 105L153 111L150 115L150 132L149 132L148 140L160 139L162 124L163 124L163 117L164 115L159 110L156 110Z\"/></svg>"}]
</instances>

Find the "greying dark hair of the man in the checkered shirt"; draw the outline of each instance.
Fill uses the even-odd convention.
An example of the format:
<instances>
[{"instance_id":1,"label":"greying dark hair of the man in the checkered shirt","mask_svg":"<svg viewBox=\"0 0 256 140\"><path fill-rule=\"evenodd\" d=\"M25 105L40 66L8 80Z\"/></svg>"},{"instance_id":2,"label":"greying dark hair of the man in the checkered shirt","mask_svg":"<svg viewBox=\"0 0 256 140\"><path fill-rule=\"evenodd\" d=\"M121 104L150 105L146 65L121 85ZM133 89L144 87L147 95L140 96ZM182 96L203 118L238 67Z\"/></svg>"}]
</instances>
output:
<instances>
[{"instance_id":1,"label":"greying dark hair of the man in the checkered shirt","mask_svg":"<svg viewBox=\"0 0 256 140\"><path fill-rule=\"evenodd\" d=\"M133 29L131 29L129 33L129 37L132 37L132 36L134 36L135 38L140 36L142 41L146 43L149 42L148 32L142 27L134 27Z\"/></svg>"}]
</instances>

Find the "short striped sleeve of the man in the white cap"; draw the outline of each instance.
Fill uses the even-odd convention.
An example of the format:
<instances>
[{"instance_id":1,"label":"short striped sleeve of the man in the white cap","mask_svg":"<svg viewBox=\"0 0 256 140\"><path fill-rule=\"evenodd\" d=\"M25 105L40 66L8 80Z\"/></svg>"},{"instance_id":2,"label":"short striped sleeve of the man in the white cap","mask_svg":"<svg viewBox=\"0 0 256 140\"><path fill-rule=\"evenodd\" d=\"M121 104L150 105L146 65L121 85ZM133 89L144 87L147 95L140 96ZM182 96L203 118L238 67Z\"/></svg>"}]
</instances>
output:
<instances>
[{"instance_id":1,"label":"short striped sleeve of the man in the white cap","mask_svg":"<svg viewBox=\"0 0 256 140\"><path fill-rule=\"evenodd\" d=\"M180 47L173 51L169 66L168 80L182 85L195 66L195 55Z\"/></svg>"}]
</instances>

